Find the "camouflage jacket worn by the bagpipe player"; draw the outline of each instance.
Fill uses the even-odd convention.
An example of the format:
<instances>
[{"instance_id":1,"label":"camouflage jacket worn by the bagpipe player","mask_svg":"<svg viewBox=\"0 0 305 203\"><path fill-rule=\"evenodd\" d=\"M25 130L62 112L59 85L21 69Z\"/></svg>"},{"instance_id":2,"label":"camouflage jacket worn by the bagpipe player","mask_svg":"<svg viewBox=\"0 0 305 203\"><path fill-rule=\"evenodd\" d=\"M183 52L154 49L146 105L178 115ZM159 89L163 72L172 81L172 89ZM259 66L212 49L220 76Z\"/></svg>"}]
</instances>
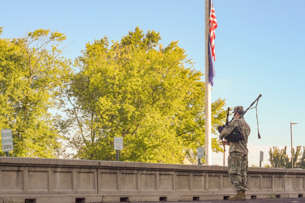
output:
<instances>
[{"instance_id":1,"label":"camouflage jacket worn by the bagpipe player","mask_svg":"<svg viewBox=\"0 0 305 203\"><path fill-rule=\"evenodd\" d=\"M251 129L248 123L246 123L244 117L239 119L233 120L229 126L226 126L220 133L219 139L223 139L230 134L230 132L235 129L236 127L239 128L240 134L245 139L236 143L229 143L229 153L231 152L241 152L243 154L248 155L248 136L250 135Z\"/></svg>"}]
</instances>

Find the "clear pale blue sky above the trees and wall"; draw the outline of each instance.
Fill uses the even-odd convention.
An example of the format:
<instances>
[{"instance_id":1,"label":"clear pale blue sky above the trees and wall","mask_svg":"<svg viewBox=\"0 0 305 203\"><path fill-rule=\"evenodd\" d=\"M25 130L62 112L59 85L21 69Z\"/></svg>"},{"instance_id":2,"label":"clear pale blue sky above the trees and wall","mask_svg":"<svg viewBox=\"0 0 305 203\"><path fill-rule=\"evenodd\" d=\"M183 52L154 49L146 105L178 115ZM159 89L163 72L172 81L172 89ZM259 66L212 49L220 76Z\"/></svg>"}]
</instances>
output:
<instances>
[{"instance_id":1,"label":"clear pale blue sky above the trees and wall","mask_svg":"<svg viewBox=\"0 0 305 203\"><path fill-rule=\"evenodd\" d=\"M67 42L73 41L65 57L74 60L88 41L103 36L120 40L139 26L144 32L160 32L164 46L179 40L178 45L196 62L196 70L204 72L203 0L0 3L1 38L21 37L40 28L60 29ZM214 0L213 5L218 27L212 102L222 98L225 108L242 105L246 109L262 94L257 108L261 139L255 109L245 115L252 129L249 166L259 165L260 151L263 164L268 163L272 146L287 146L291 154L290 122L299 123L292 126L293 147L305 146L305 1ZM222 157L213 153L212 164L222 165Z\"/></svg>"}]
</instances>

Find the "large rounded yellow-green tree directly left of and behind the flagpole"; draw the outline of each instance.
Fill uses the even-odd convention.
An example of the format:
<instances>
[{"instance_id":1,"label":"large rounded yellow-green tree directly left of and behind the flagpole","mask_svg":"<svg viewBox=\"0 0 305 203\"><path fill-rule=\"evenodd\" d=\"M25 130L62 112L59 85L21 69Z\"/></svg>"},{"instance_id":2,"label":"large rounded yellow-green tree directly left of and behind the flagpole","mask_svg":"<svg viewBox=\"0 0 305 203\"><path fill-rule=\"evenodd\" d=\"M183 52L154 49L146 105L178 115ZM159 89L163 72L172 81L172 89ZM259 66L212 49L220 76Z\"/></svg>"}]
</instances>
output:
<instances>
[{"instance_id":1,"label":"large rounded yellow-green tree directly left of and behind the flagpole","mask_svg":"<svg viewBox=\"0 0 305 203\"><path fill-rule=\"evenodd\" d=\"M80 71L65 89L78 129L71 139L75 158L115 160L119 136L120 160L196 162L196 148L205 144L203 74L178 42L156 49L160 39L137 27L112 45L107 37L86 44L75 63ZM212 104L213 132L225 119L224 105L220 98ZM212 148L222 151L216 138Z\"/></svg>"}]
</instances>

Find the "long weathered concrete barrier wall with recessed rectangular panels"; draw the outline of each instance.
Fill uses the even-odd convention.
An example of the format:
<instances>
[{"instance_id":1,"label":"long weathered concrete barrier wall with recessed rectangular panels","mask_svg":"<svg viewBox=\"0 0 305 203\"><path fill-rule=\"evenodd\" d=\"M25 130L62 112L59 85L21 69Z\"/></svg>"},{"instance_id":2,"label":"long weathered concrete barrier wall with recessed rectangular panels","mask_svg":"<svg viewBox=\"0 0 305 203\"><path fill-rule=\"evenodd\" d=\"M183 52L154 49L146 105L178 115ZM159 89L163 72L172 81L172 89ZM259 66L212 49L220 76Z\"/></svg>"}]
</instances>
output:
<instances>
[{"instance_id":1,"label":"long weathered concrete barrier wall with recessed rectangular panels","mask_svg":"<svg viewBox=\"0 0 305 203\"><path fill-rule=\"evenodd\" d=\"M235 193L227 168L0 157L0 202L223 200ZM247 199L305 194L305 170L249 167L247 182Z\"/></svg>"}]
</instances>

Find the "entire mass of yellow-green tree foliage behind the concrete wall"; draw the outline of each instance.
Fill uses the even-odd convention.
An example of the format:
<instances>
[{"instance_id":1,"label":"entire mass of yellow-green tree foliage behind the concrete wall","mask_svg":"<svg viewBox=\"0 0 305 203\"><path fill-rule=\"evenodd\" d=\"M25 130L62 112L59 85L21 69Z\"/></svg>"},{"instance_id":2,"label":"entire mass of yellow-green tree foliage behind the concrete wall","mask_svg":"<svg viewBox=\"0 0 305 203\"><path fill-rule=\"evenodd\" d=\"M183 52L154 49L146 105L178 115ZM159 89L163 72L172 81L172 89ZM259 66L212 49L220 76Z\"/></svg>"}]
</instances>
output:
<instances>
[{"instance_id":1,"label":"entire mass of yellow-green tree foliage behind the concrete wall","mask_svg":"<svg viewBox=\"0 0 305 203\"><path fill-rule=\"evenodd\" d=\"M121 40L88 42L75 71L62 57L63 33L0 38L0 127L12 129L10 156L58 158L66 139L72 158L115 160L113 138L123 137L121 161L196 163L205 145L203 73L178 41L163 47L160 39L136 27ZM214 133L224 105L211 105ZM216 138L212 150L223 151Z\"/></svg>"}]
</instances>

